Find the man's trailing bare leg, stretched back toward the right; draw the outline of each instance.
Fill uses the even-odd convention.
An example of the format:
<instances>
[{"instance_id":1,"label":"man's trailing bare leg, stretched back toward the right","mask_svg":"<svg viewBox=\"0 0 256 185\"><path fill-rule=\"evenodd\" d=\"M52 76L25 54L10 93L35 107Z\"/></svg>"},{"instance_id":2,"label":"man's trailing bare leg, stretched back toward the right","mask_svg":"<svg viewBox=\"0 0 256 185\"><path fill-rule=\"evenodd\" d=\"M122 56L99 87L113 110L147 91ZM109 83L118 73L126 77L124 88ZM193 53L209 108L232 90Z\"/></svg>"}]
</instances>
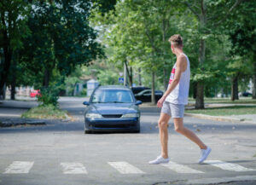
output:
<instances>
[{"instance_id":1,"label":"man's trailing bare leg, stretched back toward the right","mask_svg":"<svg viewBox=\"0 0 256 185\"><path fill-rule=\"evenodd\" d=\"M195 142L201 149L207 149L207 146L201 142L201 139L199 139L198 136L195 135L195 133L183 126L183 119L173 119L174 121L174 127L175 130L182 134L183 136L186 136L191 140L192 142Z\"/></svg>"}]
</instances>

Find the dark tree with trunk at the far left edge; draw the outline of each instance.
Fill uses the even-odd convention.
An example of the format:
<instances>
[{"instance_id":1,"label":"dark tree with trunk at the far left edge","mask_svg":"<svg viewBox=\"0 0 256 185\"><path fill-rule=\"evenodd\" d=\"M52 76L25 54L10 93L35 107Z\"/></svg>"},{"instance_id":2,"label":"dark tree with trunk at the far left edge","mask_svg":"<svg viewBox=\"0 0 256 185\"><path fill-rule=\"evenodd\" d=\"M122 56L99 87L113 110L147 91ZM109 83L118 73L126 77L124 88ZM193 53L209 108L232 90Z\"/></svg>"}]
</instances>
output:
<instances>
[{"instance_id":1,"label":"dark tree with trunk at the far left edge","mask_svg":"<svg viewBox=\"0 0 256 185\"><path fill-rule=\"evenodd\" d=\"M23 0L0 1L0 49L3 59L0 61L0 99L4 99L4 85L9 76L9 69L15 50L23 47L22 38L29 35L26 21L31 9Z\"/></svg>"}]
</instances>

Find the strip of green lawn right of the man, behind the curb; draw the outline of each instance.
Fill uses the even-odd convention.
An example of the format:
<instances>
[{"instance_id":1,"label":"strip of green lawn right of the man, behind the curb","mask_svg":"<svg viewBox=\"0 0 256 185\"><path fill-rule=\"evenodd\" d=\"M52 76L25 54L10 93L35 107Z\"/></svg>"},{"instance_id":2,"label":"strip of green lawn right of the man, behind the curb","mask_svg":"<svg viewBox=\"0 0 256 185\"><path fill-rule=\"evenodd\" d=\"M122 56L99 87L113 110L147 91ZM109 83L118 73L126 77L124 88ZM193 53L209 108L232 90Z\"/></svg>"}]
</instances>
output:
<instances>
[{"instance_id":1,"label":"strip of green lawn right of the man, behind the curb","mask_svg":"<svg viewBox=\"0 0 256 185\"><path fill-rule=\"evenodd\" d=\"M256 106L232 106L232 107L214 107L206 109L186 110L186 113L200 113L211 116L230 116L241 114L256 114Z\"/></svg>"}]
</instances>

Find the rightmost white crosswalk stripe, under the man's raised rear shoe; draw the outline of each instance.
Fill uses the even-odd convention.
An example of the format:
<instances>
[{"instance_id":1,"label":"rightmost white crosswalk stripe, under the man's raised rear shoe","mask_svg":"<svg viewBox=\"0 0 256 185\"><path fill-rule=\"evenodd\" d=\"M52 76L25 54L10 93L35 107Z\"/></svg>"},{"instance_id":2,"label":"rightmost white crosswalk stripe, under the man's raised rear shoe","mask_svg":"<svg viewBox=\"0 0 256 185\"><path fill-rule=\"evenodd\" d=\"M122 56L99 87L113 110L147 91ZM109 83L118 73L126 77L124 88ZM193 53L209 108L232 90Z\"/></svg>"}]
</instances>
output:
<instances>
[{"instance_id":1,"label":"rightmost white crosswalk stripe, under the man's raised rear shoe","mask_svg":"<svg viewBox=\"0 0 256 185\"><path fill-rule=\"evenodd\" d=\"M208 165L216 166L225 171L256 171L251 168L246 168L241 165L237 165L237 164L233 164L233 163L227 163L227 162L224 162L221 160L206 160L206 161L204 161L204 163L206 163Z\"/></svg>"}]
</instances>

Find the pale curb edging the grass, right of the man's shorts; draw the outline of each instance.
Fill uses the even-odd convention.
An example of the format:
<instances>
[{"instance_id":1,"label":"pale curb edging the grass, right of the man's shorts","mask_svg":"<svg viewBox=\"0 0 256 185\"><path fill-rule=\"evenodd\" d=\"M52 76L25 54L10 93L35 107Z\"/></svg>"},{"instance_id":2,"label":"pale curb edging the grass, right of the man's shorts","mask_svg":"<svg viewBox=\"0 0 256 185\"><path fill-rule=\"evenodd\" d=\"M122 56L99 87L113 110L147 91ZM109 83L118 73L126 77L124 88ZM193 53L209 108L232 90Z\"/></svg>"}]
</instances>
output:
<instances>
[{"instance_id":1,"label":"pale curb edging the grass, right of the man's shorts","mask_svg":"<svg viewBox=\"0 0 256 185\"><path fill-rule=\"evenodd\" d=\"M224 116L209 116L205 114L197 114L197 113L184 113L185 116L190 116L197 119L211 119L214 121L229 121L229 122L241 122L244 119L236 119L236 118L229 118Z\"/></svg>"}]
</instances>

